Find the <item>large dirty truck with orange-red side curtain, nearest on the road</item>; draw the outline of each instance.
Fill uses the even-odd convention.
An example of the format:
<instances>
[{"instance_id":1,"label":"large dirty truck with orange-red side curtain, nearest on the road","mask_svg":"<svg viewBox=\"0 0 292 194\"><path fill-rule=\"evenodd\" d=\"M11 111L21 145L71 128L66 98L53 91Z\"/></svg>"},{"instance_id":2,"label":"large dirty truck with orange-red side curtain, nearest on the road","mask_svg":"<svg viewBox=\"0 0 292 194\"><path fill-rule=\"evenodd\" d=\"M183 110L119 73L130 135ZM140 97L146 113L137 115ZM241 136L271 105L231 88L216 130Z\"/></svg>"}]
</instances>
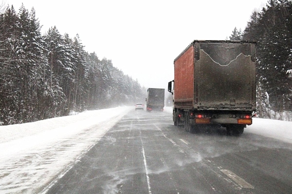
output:
<instances>
[{"instance_id":1,"label":"large dirty truck with orange-red side curtain, nearest on the road","mask_svg":"<svg viewBox=\"0 0 292 194\"><path fill-rule=\"evenodd\" d=\"M175 58L168 91L174 125L220 124L241 135L256 111L256 42L194 40Z\"/></svg>"}]
</instances>

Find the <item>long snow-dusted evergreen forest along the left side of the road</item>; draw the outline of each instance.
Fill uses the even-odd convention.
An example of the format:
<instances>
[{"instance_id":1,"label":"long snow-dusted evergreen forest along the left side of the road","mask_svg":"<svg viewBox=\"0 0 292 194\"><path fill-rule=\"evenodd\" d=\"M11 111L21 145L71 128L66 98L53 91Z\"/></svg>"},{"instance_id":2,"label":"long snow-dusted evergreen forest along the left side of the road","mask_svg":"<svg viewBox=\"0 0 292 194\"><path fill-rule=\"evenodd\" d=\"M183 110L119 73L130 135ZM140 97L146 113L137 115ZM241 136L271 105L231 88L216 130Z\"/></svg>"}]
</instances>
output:
<instances>
[{"instance_id":1,"label":"long snow-dusted evergreen forest along the left side of the road","mask_svg":"<svg viewBox=\"0 0 292 194\"><path fill-rule=\"evenodd\" d=\"M133 105L144 96L111 60L86 52L78 34L52 27L41 35L34 8L0 14L0 125Z\"/></svg>"}]
</instances>

